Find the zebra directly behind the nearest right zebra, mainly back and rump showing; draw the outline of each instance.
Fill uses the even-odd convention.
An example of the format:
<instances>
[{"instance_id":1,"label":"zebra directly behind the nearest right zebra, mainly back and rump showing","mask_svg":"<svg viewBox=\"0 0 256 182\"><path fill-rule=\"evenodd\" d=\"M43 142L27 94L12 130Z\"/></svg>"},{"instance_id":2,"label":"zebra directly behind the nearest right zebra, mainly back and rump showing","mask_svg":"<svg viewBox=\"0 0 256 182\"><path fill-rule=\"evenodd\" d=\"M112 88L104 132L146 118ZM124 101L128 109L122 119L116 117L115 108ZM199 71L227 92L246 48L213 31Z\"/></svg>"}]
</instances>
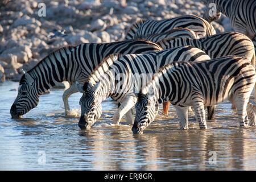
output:
<instances>
[{"instance_id":1,"label":"zebra directly behind the nearest right zebra, mainly back and rump showing","mask_svg":"<svg viewBox=\"0 0 256 182\"><path fill-rule=\"evenodd\" d=\"M211 35L201 39L189 38L167 38L156 42L163 49L174 48L179 46L193 46L203 50L210 58L224 56L239 56L250 60L255 65L255 51L251 40L238 32L225 32L222 34ZM255 89L256 90L256 89ZM255 92L256 99L256 92ZM215 106L209 106L208 119L214 118ZM164 105L164 110L168 113L168 104Z\"/></svg>"}]
</instances>

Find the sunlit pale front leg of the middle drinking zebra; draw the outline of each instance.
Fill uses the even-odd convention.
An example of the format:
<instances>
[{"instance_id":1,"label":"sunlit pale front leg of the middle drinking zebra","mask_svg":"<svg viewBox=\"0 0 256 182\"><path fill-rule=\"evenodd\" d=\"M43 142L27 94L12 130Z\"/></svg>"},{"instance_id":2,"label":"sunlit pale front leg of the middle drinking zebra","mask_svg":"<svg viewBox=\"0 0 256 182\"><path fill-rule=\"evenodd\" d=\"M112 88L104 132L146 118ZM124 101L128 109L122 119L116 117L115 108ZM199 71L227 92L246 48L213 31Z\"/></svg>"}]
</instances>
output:
<instances>
[{"instance_id":1,"label":"sunlit pale front leg of the middle drinking zebra","mask_svg":"<svg viewBox=\"0 0 256 182\"><path fill-rule=\"evenodd\" d=\"M127 113L127 111L131 110L133 108L133 106L136 104L137 102L137 97L135 96L126 96L125 98L123 98L123 100L119 103L119 107L117 112L114 114L113 117L113 122L115 125L118 125L119 122L121 121L123 115L125 115ZM128 119L131 119L133 117L129 117ZM133 123L134 122L134 118L132 121L127 121L128 123Z\"/></svg>"}]
</instances>

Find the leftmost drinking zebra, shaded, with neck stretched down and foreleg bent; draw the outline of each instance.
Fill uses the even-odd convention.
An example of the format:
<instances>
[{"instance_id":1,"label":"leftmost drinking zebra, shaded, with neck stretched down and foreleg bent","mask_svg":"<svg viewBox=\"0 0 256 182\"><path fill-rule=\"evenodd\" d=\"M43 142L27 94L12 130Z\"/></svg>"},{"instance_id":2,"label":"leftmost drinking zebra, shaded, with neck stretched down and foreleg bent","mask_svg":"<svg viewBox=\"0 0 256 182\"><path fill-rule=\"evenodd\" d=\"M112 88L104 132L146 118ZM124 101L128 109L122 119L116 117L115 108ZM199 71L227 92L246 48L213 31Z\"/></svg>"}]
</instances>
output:
<instances>
[{"instance_id":1,"label":"leftmost drinking zebra, shaded, with neck stretched down and foreleg bent","mask_svg":"<svg viewBox=\"0 0 256 182\"><path fill-rule=\"evenodd\" d=\"M39 102L39 96L57 82L68 81L71 85L63 93L65 114L68 115L68 97L78 92L75 82L84 82L102 59L113 54L149 53L162 50L155 43L146 40L127 40L115 43L85 43L79 46L60 48L30 71L24 73L19 82L18 96L11 106L12 117L20 117Z\"/></svg>"}]
</instances>

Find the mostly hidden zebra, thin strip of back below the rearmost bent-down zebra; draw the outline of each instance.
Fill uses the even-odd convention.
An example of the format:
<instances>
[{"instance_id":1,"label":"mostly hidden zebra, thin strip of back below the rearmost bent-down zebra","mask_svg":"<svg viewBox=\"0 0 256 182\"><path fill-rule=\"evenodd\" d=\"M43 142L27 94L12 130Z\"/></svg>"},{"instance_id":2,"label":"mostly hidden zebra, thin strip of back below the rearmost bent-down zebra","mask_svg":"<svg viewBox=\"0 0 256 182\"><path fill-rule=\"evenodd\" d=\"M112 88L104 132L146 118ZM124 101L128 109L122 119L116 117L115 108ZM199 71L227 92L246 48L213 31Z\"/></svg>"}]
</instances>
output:
<instances>
[{"instance_id":1,"label":"mostly hidden zebra, thin strip of back below the rearmost bent-down zebra","mask_svg":"<svg viewBox=\"0 0 256 182\"><path fill-rule=\"evenodd\" d=\"M174 28L162 34L151 34L151 35L145 36L143 39L150 40L151 42L156 43L162 39L172 38L172 37L199 39L199 36L194 31L189 30L188 28Z\"/></svg>"}]
</instances>

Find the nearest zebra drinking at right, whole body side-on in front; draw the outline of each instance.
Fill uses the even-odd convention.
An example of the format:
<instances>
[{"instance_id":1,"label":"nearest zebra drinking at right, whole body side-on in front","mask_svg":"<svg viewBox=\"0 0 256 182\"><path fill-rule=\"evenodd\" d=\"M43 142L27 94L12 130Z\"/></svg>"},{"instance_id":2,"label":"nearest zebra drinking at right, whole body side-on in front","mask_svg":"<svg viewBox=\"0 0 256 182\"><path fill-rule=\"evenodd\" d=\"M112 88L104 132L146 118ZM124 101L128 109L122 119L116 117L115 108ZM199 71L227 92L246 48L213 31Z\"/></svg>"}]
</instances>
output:
<instances>
[{"instance_id":1,"label":"nearest zebra drinking at right, whole body side-on in front","mask_svg":"<svg viewBox=\"0 0 256 182\"><path fill-rule=\"evenodd\" d=\"M189 106L195 110L200 129L207 129L204 107L225 100L236 106L240 127L246 127L249 123L246 106L255 82L254 65L242 57L165 65L138 95L132 131L143 133L155 119L155 107L163 101L170 101L175 106L183 130L188 129Z\"/></svg>"}]
</instances>

